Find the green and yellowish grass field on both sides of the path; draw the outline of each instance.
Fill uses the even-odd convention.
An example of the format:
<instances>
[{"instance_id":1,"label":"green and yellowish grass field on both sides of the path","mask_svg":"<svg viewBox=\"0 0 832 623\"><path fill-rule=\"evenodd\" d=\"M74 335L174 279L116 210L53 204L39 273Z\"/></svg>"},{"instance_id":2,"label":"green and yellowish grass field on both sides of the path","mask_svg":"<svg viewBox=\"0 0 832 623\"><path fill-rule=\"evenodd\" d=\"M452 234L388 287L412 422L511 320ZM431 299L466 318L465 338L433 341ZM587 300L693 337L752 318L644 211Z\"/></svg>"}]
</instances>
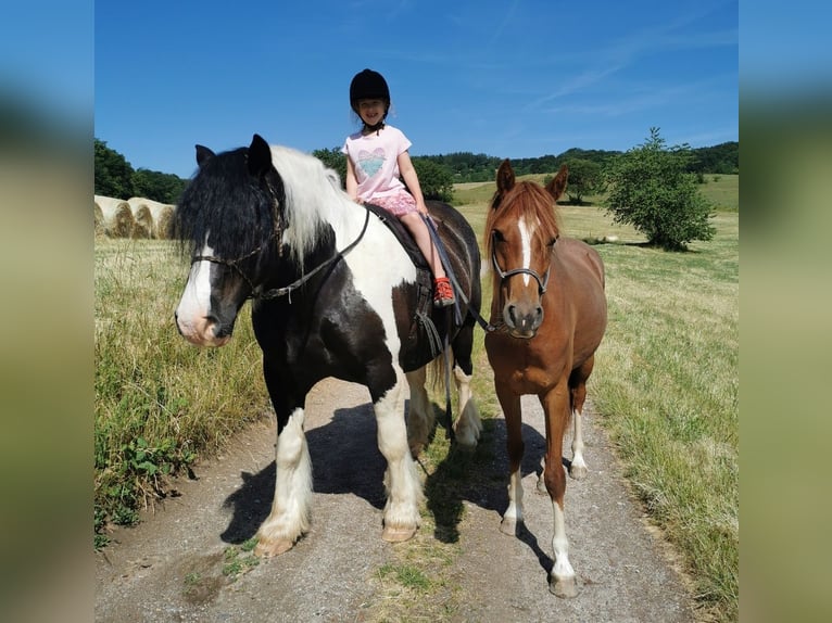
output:
<instances>
[{"instance_id":1,"label":"green and yellowish grass field on both sides of the path","mask_svg":"<svg viewBox=\"0 0 832 623\"><path fill-rule=\"evenodd\" d=\"M590 399L633 493L680 552L703 611L718 621L736 620L739 610L736 181L720 176L703 185L704 193L723 196L723 207L715 239L691 244L688 253L641 245L635 231L613 226L597 207L562 206L566 234L618 237L596 246L607 268L609 326ZM492 185L457 192L459 209L480 236L492 192ZM223 348L194 348L177 334L173 310L186 272L168 242L96 241L98 545L109 522L136 521L137 509L164 494L167 473L187 471L197 456L210 455L269 408L248 306L236 339ZM484 293L488 309L488 285ZM476 335L474 389L483 417L494 418L500 408L481 331ZM431 462L442 463L446 452L434 441ZM461 478L439 475L429 500L441 499L442 488ZM441 504L430 503L424 518L443 523L441 512ZM449 556L453 551L425 554L430 564ZM401 577L418 580L421 564L403 560L379 575L400 584Z\"/></svg>"}]
</instances>

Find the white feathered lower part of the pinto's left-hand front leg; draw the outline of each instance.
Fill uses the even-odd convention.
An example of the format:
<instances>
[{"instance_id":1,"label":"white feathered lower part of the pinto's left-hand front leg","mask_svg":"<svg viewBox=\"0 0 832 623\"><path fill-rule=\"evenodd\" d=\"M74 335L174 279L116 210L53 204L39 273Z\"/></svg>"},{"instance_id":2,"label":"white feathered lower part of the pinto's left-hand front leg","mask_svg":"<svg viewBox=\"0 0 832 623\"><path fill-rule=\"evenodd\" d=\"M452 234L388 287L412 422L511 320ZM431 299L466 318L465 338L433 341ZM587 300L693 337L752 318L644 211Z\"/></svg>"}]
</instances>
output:
<instances>
[{"instance_id":1,"label":"white feathered lower part of the pinto's left-hand front leg","mask_svg":"<svg viewBox=\"0 0 832 623\"><path fill-rule=\"evenodd\" d=\"M257 531L261 542L294 543L310 529L312 461L303 417L303 409L295 409L277 437L275 500L272 513Z\"/></svg>"}]
</instances>

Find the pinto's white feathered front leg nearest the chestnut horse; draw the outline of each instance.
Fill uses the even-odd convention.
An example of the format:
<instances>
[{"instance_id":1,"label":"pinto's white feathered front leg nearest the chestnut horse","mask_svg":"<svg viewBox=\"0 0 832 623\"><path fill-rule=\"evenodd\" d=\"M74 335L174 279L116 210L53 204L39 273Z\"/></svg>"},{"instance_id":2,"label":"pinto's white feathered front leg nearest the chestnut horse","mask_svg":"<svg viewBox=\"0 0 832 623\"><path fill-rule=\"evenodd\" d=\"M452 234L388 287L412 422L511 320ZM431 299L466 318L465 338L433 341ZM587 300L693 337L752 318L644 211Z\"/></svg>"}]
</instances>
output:
<instances>
[{"instance_id":1,"label":"pinto's white feathered front leg nearest the chestnut horse","mask_svg":"<svg viewBox=\"0 0 832 623\"><path fill-rule=\"evenodd\" d=\"M404 374L398 373L393 386L379 398L370 389L378 424L378 448L387 459L387 505L381 538L391 543L407 541L416 534L423 499L421 482L407 444L405 386Z\"/></svg>"}]
</instances>

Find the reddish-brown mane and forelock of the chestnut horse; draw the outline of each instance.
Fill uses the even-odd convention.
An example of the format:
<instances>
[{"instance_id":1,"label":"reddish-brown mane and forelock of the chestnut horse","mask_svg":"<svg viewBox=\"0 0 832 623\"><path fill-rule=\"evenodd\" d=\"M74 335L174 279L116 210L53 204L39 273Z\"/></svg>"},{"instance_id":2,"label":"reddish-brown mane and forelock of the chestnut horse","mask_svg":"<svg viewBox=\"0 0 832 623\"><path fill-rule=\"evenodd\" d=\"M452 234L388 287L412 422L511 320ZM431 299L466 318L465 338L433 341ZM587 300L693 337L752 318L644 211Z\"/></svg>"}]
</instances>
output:
<instances>
[{"instance_id":1,"label":"reddish-brown mane and forelock of the chestnut horse","mask_svg":"<svg viewBox=\"0 0 832 623\"><path fill-rule=\"evenodd\" d=\"M560 236L560 215L555 199L542 186L533 181L519 181L512 190L494 193L491 207L486 218L486 257L493 253L494 224L497 219L509 218L513 221L527 220L539 227L540 234L549 240ZM489 260L490 262L490 260ZM490 266L489 263L486 264Z\"/></svg>"}]
</instances>

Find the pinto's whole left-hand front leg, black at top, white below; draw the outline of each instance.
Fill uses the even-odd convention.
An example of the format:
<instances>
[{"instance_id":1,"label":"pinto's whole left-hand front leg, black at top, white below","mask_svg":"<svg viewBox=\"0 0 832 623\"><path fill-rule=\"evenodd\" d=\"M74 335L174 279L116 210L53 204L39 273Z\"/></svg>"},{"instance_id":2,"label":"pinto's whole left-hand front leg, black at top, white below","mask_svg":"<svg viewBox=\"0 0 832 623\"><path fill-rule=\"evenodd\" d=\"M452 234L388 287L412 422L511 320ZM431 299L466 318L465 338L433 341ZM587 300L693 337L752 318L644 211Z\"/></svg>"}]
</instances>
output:
<instances>
[{"instance_id":1,"label":"pinto's whole left-hand front leg, black at top, white below","mask_svg":"<svg viewBox=\"0 0 832 623\"><path fill-rule=\"evenodd\" d=\"M291 549L310 529L312 505L312 461L303 432L303 407L287 404L286 394L268 364L264 364L266 385L277 415L275 448L275 499L272 512L257 530L254 554L269 557Z\"/></svg>"}]
</instances>

